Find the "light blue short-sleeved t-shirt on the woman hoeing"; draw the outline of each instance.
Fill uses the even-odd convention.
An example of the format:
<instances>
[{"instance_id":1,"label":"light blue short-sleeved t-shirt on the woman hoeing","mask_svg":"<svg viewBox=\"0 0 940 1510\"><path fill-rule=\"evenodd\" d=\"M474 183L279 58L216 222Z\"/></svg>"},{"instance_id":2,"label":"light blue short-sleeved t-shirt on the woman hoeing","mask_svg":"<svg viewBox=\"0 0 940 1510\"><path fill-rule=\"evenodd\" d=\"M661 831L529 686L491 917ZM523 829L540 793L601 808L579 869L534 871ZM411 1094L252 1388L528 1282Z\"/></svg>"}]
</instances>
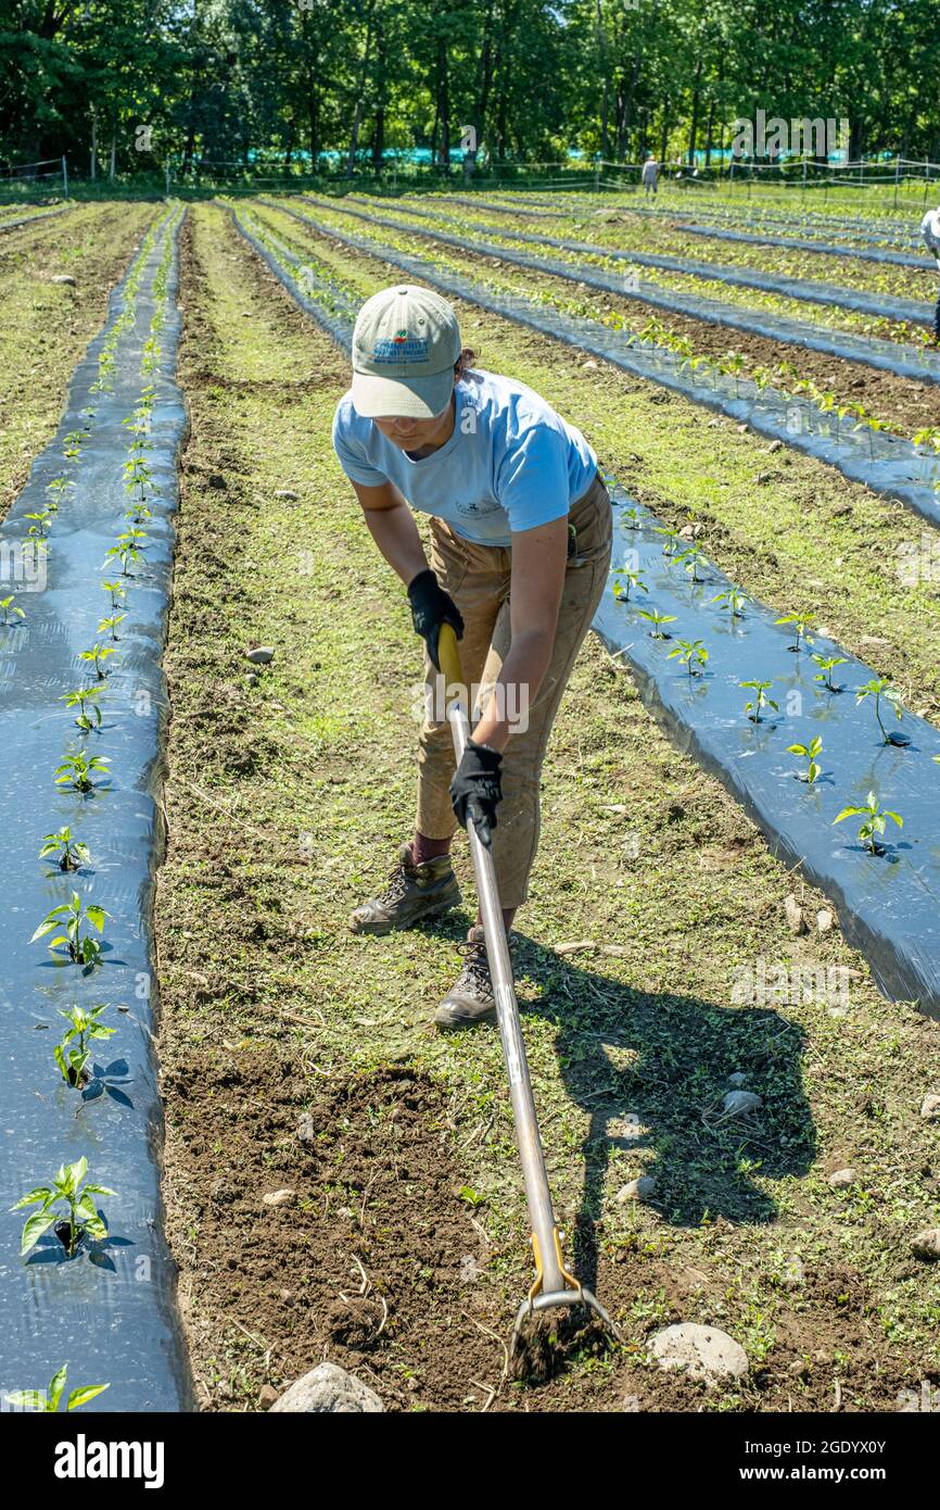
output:
<instances>
[{"instance_id":1,"label":"light blue short-sleeved t-shirt on the woman hoeing","mask_svg":"<svg viewBox=\"0 0 940 1510\"><path fill-rule=\"evenodd\" d=\"M537 393L475 370L454 393L454 433L419 461L356 414L352 391L344 394L333 447L346 476L365 488L394 482L412 509L439 515L477 545L510 545L513 530L561 519L587 492L597 458Z\"/></svg>"}]
</instances>

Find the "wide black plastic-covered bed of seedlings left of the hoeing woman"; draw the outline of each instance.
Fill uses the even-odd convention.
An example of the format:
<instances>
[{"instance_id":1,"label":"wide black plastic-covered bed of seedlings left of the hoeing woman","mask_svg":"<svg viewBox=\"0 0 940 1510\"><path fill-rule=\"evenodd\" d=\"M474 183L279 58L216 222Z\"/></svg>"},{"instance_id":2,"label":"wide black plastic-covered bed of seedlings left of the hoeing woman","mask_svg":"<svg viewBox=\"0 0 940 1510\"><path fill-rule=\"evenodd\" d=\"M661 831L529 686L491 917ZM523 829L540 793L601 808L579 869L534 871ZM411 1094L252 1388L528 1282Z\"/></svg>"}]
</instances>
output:
<instances>
[{"instance_id":1,"label":"wide black plastic-covered bed of seedlings left of the hoeing woman","mask_svg":"<svg viewBox=\"0 0 940 1510\"><path fill-rule=\"evenodd\" d=\"M75 1383L109 1385L94 1410L190 1404L160 1206L149 926L186 427L180 220L163 216L113 291L0 532L15 563L0 627L0 1377L42 1389L68 1364Z\"/></svg>"}]
</instances>

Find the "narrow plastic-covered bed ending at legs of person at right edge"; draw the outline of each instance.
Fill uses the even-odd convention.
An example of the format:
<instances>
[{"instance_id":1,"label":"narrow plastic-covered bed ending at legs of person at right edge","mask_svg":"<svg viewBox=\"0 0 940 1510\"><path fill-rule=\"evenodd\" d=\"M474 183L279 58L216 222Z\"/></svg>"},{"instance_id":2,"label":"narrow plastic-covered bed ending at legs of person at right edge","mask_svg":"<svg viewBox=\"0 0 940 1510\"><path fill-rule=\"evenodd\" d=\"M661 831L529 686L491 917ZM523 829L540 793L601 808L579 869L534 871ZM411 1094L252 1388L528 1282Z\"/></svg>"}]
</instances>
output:
<instances>
[{"instance_id":1,"label":"narrow plastic-covered bed ending at legs of person at right edge","mask_svg":"<svg viewBox=\"0 0 940 1510\"><path fill-rule=\"evenodd\" d=\"M312 195L305 195L312 199ZM362 195L346 195L347 201L356 204L376 205L376 199ZM385 202L379 201L383 207ZM332 205L338 208L338 205ZM418 210L412 204L401 204L397 208L407 214L419 216L425 220L441 220L441 213ZM344 213L352 213L346 211ZM887 299L880 294L865 293L859 288L840 288L836 284L815 282L806 278L786 278L779 273L762 273L753 267L732 267L721 263L696 263L679 257L665 257L656 252L620 251L616 246L604 246L599 242L579 242L570 237L540 236L534 231L505 231L498 225L475 226L483 236L505 237L511 242L527 242L536 246L555 246L566 252L585 252L591 257L605 257L611 261L635 263L638 267L661 267L664 272L682 273L690 278L705 278L708 281L726 282L738 288L760 288L765 293L780 294L786 299L800 299L807 304L834 305L851 310L857 314L874 314L887 320L914 320L926 325L932 320L932 304L920 299Z\"/></svg>"}]
</instances>

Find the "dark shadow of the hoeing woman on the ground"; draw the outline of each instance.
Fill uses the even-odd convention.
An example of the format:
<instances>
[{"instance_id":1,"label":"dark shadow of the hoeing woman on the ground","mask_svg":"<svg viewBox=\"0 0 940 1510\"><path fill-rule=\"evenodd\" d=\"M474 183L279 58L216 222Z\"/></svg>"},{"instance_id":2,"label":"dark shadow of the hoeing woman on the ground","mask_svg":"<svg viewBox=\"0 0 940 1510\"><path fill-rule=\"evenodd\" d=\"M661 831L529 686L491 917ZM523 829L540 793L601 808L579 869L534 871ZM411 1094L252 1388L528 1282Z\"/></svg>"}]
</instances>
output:
<instances>
[{"instance_id":1,"label":"dark shadow of the hoeing woman on the ground","mask_svg":"<svg viewBox=\"0 0 940 1510\"><path fill-rule=\"evenodd\" d=\"M614 1149L634 1155L620 1184L652 1175L649 1203L670 1223L774 1220L777 1206L753 1175L803 1175L816 1149L801 1028L774 1006L646 995L528 938L521 942L518 982L528 978L540 991L537 1001L521 1004L524 1028L527 1016L557 1024L566 1090L590 1117L573 1255L584 1284L596 1284L594 1226L613 1193ZM726 1098L738 1087L759 1095L762 1105L730 1113Z\"/></svg>"}]
</instances>

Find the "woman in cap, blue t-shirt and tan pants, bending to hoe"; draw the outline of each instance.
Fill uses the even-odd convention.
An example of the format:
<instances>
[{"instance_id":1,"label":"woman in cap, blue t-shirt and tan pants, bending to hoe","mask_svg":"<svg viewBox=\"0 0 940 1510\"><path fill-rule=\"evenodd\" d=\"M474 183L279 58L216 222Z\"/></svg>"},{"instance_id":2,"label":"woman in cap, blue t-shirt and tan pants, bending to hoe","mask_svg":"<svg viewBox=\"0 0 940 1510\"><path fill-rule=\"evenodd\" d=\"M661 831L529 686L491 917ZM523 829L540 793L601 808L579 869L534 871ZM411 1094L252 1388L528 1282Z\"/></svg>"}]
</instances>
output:
<instances>
[{"instance_id":1,"label":"woman in cap, blue t-shirt and tan pants, bending to hoe","mask_svg":"<svg viewBox=\"0 0 940 1510\"><path fill-rule=\"evenodd\" d=\"M472 802L508 929L539 846L545 747L610 569L597 458L525 384L474 367L450 304L413 284L359 311L333 447L425 646L415 835L350 927L391 933L460 903L450 849ZM429 556L412 510L429 516ZM368 634L368 606L362 613ZM444 624L460 640L469 689L472 734L457 769L438 676ZM374 800L382 761L364 775ZM385 820L377 811L373 826ZM435 1015L444 1030L496 1019L480 915L463 948Z\"/></svg>"}]
</instances>

